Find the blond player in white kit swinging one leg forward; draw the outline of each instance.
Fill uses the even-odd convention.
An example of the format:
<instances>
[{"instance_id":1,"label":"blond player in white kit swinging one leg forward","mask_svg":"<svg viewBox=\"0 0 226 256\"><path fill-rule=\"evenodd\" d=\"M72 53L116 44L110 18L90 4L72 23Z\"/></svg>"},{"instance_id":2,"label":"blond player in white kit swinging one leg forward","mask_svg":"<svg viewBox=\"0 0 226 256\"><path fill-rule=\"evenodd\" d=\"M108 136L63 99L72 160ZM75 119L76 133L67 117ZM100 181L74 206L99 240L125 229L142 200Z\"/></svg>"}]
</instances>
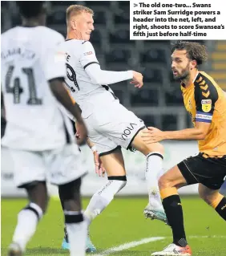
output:
<instances>
[{"instance_id":1,"label":"blond player in white kit swinging one leg forward","mask_svg":"<svg viewBox=\"0 0 226 256\"><path fill-rule=\"evenodd\" d=\"M147 190L149 202L144 210L147 217L167 221L159 196L158 177L163 174L163 145L145 144L141 137L147 129L140 120L115 97L107 84L131 79L135 87L143 86L143 75L135 71L103 71L89 42L94 30L93 11L85 6L73 5L67 8L67 40L62 44L67 52L67 87L79 104L87 124L88 136L95 144L108 182L91 198L85 211L88 223L99 215L127 184L123 148L135 148L147 156ZM63 241L63 248L67 248ZM95 246L87 240L87 251Z\"/></svg>"}]
</instances>

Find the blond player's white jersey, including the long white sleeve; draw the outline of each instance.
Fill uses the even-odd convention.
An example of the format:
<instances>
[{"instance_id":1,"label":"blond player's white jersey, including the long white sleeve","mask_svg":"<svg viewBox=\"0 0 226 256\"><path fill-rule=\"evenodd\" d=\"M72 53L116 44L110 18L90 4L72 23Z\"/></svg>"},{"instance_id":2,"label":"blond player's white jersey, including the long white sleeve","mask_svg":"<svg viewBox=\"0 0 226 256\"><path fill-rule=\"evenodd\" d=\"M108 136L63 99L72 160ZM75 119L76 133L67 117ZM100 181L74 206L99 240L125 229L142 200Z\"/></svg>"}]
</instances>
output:
<instances>
[{"instance_id":1,"label":"blond player's white jersey, including the long white sleeve","mask_svg":"<svg viewBox=\"0 0 226 256\"><path fill-rule=\"evenodd\" d=\"M61 46L67 56L67 79L65 82L71 91L71 96L82 109L83 117L103 110L111 102L118 100L107 84L132 78L131 71L102 71L99 76L105 76L105 79L99 80L100 77L93 79L92 75L95 75L96 70L91 71L91 67L97 67L99 61L92 44L89 41L69 39ZM101 80L104 80L105 83L101 83Z\"/></svg>"}]
</instances>

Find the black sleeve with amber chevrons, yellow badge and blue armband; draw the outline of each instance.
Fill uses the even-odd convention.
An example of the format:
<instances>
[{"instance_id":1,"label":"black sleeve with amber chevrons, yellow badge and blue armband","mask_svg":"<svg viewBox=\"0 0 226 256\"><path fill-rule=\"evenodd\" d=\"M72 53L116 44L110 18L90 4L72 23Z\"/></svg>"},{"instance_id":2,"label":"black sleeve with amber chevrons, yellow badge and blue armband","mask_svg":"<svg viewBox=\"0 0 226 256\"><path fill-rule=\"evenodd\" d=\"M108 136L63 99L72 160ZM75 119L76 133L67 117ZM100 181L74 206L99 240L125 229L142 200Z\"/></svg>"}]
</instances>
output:
<instances>
[{"instance_id":1,"label":"black sleeve with amber chevrons, yellow badge and blue armband","mask_svg":"<svg viewBox=\"0 0 226 256\"><path fill-rule=\"evenodd\" d=\"M196 122L212 122L212 115L218 100L216 87L208 81L197 83L195 87Z\"/></svg>"}]
</instances>

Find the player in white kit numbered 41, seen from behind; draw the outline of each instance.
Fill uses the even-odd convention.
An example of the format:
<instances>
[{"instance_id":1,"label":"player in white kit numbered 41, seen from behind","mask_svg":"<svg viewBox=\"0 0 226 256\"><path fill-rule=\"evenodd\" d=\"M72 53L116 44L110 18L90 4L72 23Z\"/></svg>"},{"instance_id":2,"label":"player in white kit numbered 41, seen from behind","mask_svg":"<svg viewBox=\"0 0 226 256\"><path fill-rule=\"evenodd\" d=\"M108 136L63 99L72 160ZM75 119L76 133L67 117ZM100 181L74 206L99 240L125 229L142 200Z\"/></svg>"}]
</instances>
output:
<instances>
[{"instance_id":1,"label":"player in white kit numbered 41, seen from behind","mask_svg":"<svg viewBox=\"0 0 226 256\"><path fill-rule=\"evenodd\" d=\"M14 165L14 181L26 189L29 203L18 213L10 244L10 256L22 255L38 221L46 212L46 181L59 186L64 217L71 241L71 256L84 256L87 224L80 200L81 177L85 175L71 121L59 103L75 116L87 138L79 107L64 87L67 75L65 53L58 50L63 36L44 26L43 2L18 2L22 26L1 35L2 95L6 130L2 151ZM59 102L58 102L59 101Z\"/></svg>"}]
</instances>

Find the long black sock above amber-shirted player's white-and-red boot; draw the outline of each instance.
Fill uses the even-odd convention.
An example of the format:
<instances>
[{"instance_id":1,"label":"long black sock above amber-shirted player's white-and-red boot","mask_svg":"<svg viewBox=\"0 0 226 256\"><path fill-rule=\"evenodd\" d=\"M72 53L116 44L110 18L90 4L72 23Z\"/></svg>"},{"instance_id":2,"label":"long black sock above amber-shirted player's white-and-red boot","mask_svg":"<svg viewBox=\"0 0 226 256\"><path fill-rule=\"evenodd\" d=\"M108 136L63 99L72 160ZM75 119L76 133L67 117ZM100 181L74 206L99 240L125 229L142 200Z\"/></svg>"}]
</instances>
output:
<instances>
[{"instance_id":1,"label":"long black sock above amber-shirted player's white-and-red boot","mask_svg":"<svg viewBox=\"0 0 226 256\"><path fill-rule=\"evenodd\" d=\"M173 243L177 246L188 245L184 231L183 210L179 195L172 195L163 199L163 207L167 214L167 220L172 227Z\"/></svg>"}]
</instances>

